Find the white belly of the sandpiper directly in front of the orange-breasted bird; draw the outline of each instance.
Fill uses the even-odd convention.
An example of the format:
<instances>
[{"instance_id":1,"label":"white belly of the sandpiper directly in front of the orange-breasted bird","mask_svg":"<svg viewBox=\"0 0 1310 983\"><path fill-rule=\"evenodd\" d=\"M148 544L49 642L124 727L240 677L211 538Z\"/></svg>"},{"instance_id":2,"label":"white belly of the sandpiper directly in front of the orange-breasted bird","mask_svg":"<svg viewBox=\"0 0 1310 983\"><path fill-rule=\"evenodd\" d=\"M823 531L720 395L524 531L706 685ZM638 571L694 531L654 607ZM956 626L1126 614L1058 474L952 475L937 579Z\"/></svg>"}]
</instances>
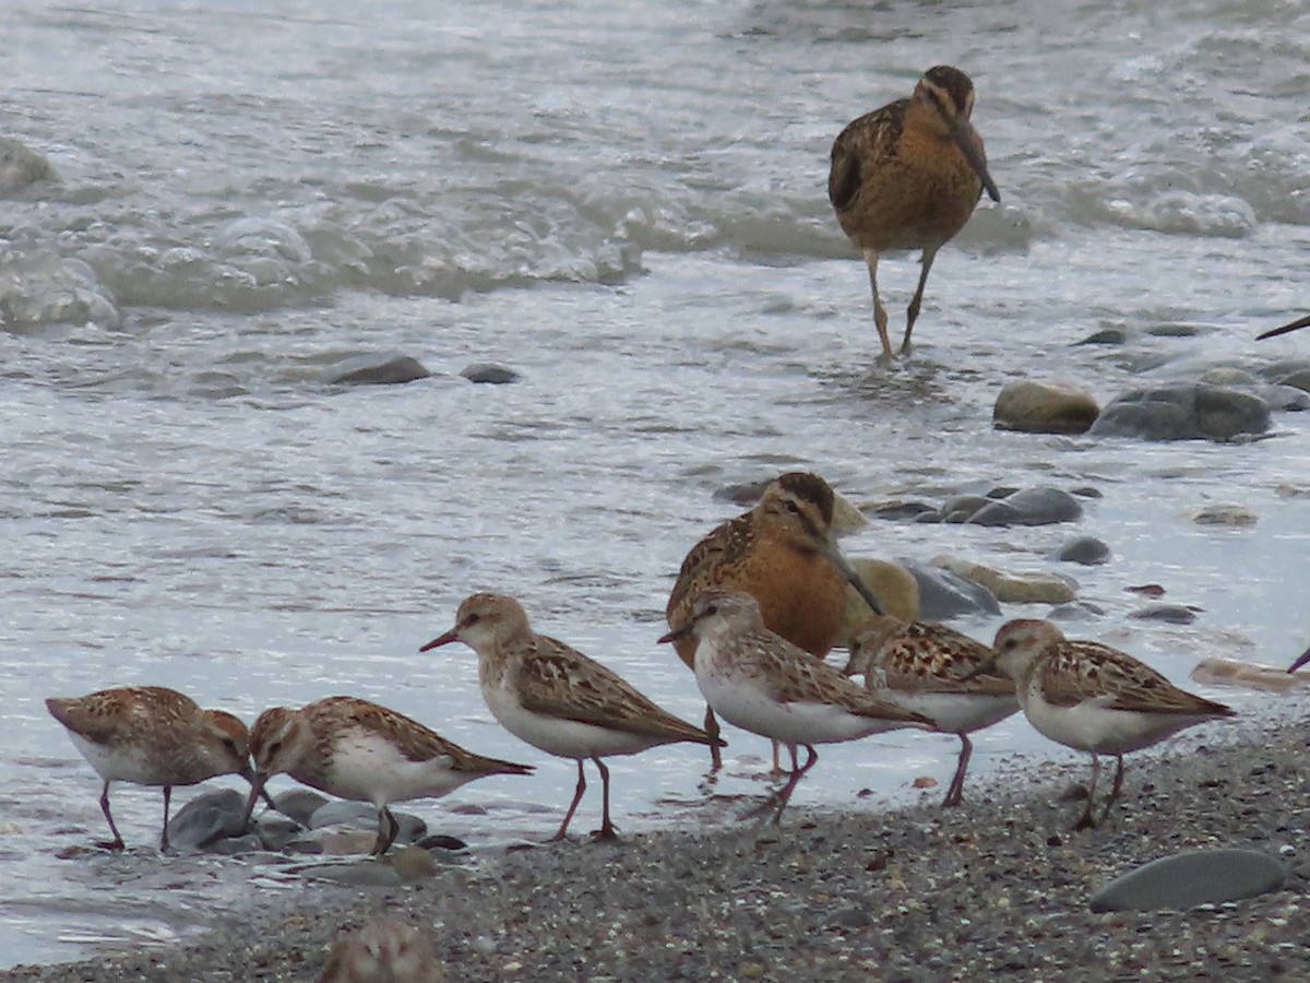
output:
<instances>
[{"instance_id":1,"label":"white belly of the sandpiper directly in front of the orange-breasted bird","mask_svg":"<svg viewBox=\"0 0 1310 983\"><path fill-rule=\"evenodd\" d=\"M831 744L904 726L825 703L778 703L761 692L753 678L707 671L700 655L696 683L705 701L728 723L787 744Z\"/></svg>"}]
</instances>

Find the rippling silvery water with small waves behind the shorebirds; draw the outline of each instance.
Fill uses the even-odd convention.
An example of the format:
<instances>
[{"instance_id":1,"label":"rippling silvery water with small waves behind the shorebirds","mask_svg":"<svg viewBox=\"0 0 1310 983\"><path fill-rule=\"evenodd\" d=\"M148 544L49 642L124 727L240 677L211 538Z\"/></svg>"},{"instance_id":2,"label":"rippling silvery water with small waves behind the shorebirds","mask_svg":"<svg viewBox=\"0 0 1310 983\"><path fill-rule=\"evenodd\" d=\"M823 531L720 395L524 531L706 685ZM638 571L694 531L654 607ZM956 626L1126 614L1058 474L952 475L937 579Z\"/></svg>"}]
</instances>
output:
<instances>
[{"instance_id":1,"label":"rippling silvery water with small waves behind the shorebirds","mask_svg":"<svg viewBox=\"0 0 1310 983\"><path fill-rule=\"evenodd\" d=\"M736 510L714 492L791 467L859 505L1095 486L1076 531L1115 560L1064 570L1106 612L1082 633L1179 680L1201 655L1284 662L1307 641L1303 414L1234 446L990 426L1013 377L1104 402L1305 353L1310 332L1252 343L1310 304L1298 4L267 8L0 10L0 135L59 174L16 189L0 168L0 962L166 941L242 902L240 861L148 849L153 790L115 796L141 849L58 857L102 819L42 697L157 683L248 721L372 697L540 767L417 803L431 824L540 836L557 814L532 806L567 801L571 764L491 722L472 653L418 646L472 590L506 591L698 717L654 644L672 575ZM920 347L886 371L828 148L942 62L973 76L1003 204L943 250ZM914 257L884 265L893 325L916 275ZM1076 345L1102 328L1129 339ZM392 351L438 375L322 381ZM521 381L469 384L473 362ZM1188 518L1216 502L1260 522ZM1073 532L875 522L846 549L1053 569ZM1125 621L1138 583L1200 617ZM761 794L765 742L730 737L718 790ZM979 746L975 788L1014 751L1073 759L1022 720ZM825 750L796 805L909 801L954 754L897 734ZM616 761L620 824L730 822L701 773L677 747Z\"/></svg>"}]
</instances>

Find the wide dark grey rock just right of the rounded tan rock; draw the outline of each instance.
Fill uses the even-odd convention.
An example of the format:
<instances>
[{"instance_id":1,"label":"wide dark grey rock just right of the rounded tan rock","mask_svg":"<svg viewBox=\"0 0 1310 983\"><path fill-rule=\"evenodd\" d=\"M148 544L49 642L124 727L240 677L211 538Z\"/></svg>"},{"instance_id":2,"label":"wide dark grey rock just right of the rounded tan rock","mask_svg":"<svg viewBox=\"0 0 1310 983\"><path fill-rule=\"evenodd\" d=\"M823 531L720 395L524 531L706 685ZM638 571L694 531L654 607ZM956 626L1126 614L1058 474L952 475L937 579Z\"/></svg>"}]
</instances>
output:
<instances>
[{"instance_id":1,"label":"wide dark grey rock just right of the rounded tan rock","mask_svg":"<svg viewBox=\"0 0 1310 983\"><path fill-rule=\"evenodd\" d=\"M1179 384L1123 393L1102 410L1091 434L1145 440L1231 440L1268 429L1269 406L1259 396L1220 385Z\"/></svg>"}]
</instances>

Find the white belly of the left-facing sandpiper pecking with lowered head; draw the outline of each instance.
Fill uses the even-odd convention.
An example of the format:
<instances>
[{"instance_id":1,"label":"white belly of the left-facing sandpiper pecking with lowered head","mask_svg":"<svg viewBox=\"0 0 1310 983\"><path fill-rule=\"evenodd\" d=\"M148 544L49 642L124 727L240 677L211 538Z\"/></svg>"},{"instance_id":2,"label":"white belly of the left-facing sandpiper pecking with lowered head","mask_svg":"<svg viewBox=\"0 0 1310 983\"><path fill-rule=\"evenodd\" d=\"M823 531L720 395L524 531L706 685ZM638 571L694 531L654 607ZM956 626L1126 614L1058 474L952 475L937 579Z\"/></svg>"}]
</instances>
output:
<instances>
[{"instance_id":1,"label":"white belly of the left-facing sandpiper pecking with lowered head","mask_svg":"<svg viewBox=\"0 0 1310 983\"><path fill-rule=\"evenodd\" d=\"M338 738L322 781L307 781L295 772L292 777L338 798L381 806L410 798L439 798L478 776L455 771L445 755L411 761L392 742L355 731Z\"/></svg>"}]
</instances>

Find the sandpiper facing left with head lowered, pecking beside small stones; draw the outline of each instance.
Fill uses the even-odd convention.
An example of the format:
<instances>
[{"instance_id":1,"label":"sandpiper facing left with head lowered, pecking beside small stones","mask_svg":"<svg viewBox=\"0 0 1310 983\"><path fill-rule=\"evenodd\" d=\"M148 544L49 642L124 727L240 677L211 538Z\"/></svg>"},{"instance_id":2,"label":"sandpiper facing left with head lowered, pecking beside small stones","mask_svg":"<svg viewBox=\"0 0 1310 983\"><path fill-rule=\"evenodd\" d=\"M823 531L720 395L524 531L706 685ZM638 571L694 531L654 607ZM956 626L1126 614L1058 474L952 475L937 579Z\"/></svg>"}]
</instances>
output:
<instances>
[{"instance_id":1,"label":"sandpiper facing left with head lowered, pecking beside small stones","mask_svg":"<svg viewBox=\"0 0 1310 983\"><path fill-rule=\"evenodd\" d=\"M269 779L287 773L329 796L376 806L377 857L400 830L392 802L440 798L491 775L532 773L531 765L465 751L418 721L354 696L329 696L299 710L271 706L250 729L250 755L246 823Z\"/></svg>"}]
</instances>

